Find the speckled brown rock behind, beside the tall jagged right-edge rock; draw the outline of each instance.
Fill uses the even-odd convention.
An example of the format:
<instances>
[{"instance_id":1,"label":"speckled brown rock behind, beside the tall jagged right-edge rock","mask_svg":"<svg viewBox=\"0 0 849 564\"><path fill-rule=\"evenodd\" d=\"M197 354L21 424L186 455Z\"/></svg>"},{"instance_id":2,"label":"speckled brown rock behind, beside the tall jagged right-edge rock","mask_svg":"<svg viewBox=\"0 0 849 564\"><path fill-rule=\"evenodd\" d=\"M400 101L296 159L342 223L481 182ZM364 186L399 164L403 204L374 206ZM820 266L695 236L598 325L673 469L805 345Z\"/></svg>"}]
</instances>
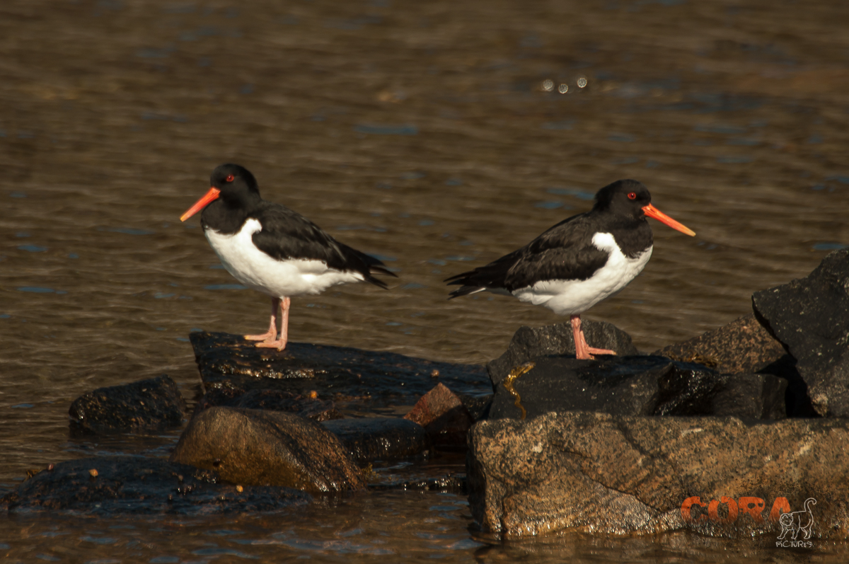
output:
<instances>
[{"instance_id":1,"label":"speckled brown rock behind, beside the tall jagged right-edge rock","mask_svg":"<svg viewBox=\"0 0 849 564\"><path fill-rule=\"evenodd\" d=\"M752 374L787 352L750 313L719 329L663 347L652 354L704 364L722 374Z\"/></svg>"}]
</instances>

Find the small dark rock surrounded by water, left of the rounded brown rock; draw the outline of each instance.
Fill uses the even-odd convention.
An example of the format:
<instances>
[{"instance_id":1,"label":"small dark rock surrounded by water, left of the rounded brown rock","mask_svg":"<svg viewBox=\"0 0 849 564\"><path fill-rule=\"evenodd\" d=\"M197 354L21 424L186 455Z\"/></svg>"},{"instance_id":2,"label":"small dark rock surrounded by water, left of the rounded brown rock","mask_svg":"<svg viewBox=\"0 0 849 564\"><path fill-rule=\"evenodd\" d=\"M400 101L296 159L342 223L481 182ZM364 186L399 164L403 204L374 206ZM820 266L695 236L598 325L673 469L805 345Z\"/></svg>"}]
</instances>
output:
<instances>
[{"instance_id":1,"label":"small dark rock surrounded by water, left of the rounded brown rock","mask_svg":"<svg viewBox=\"0 0 849 564\"><path fill-rule=\"evenodd\" d=\"M74 431L109 433L183 424L185 403L168 375L87 392L70 404Z\"/></svg>"}]
</instances>

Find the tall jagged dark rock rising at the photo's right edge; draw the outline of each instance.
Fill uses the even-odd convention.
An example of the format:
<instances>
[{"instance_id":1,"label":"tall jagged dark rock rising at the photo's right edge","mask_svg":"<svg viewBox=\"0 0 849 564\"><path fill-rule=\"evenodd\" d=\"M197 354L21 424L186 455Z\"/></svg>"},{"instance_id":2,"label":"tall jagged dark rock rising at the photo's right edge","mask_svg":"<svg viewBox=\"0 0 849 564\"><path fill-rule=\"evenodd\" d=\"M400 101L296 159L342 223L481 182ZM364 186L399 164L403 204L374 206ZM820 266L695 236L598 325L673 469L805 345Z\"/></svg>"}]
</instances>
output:
<instances>
[{"instance_id":1,"label":"tall jagged dark rock rising at the photo's right edge","mask_svg":"<svg viewBox=\"0 0 849 564\"><path fill-rule=\"evenodd\" d=\"M849 416L849 249L829 254L807 278L755 292L752 307L796 358L818 415Z\"/></svg>"}]
</instances>

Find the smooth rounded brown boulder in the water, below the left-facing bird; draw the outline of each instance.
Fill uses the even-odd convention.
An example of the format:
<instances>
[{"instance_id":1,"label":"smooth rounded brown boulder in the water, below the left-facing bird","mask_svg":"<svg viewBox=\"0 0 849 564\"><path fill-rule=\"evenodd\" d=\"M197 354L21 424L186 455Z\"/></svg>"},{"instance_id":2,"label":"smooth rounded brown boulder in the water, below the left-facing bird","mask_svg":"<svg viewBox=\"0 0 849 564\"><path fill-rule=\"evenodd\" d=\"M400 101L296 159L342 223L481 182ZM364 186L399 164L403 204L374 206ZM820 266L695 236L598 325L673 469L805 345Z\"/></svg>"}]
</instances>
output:
<instances>
[{"instance_id":1,"label":"smooth rounded brown boulder in the water, below the left-facing bird","mask_svg":"<svg viewBox=\"0 0 849 564\"><path fill-rule=\"evenodd\" d=\"M188 422L172 462L222 480L311 493L365 488L339 440L321 424L283 411L214 407Z\"/></svg>"}]
</instances>

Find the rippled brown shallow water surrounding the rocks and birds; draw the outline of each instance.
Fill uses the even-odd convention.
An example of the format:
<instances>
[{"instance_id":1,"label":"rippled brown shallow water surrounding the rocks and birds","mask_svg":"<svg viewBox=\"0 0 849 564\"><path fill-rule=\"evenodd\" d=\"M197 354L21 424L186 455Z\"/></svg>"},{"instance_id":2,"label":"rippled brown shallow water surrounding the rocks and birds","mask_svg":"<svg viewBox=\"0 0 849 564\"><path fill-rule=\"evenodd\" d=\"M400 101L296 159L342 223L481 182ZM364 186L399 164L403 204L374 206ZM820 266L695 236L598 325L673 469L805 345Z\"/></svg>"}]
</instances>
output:
<instances>
[{"instance_id":1,"label":"rippled brown shallow water surrounding the rocks and birds","mask_svg":"<svg viewBox=\"0 0 849 564\"><path fill-rule=\"evenodd\" d=\"M233 289L197 219L178 221L222 161L401 277L295 299L293 340L437 360L483 363L520 325L559 321L503 297L446 302L441 279L588 210L617 178L697 233L653 223L644 274L587 314L647 351L749 313L753 290L849 244L845 3L5 0L0 16L3 488L52 461L166 455L178 431L70 438L70 401L161 373L191 398L189 330L266 326L267 298ZM47 534L68 551L48 556L71 561L282 546L341 560L354 550L335 547L382 528L387 550L421 558L715 561L738 546L576 537L481 553L462 499L446 503L461 509L373 494L217 536L235 525L16 518L0 542L30 559ZM421 519L375 522L385 511ZM360 524L325 530L337 514ZM85 539L98 535L116 540Z\"/></svg>"}]
</instances>

